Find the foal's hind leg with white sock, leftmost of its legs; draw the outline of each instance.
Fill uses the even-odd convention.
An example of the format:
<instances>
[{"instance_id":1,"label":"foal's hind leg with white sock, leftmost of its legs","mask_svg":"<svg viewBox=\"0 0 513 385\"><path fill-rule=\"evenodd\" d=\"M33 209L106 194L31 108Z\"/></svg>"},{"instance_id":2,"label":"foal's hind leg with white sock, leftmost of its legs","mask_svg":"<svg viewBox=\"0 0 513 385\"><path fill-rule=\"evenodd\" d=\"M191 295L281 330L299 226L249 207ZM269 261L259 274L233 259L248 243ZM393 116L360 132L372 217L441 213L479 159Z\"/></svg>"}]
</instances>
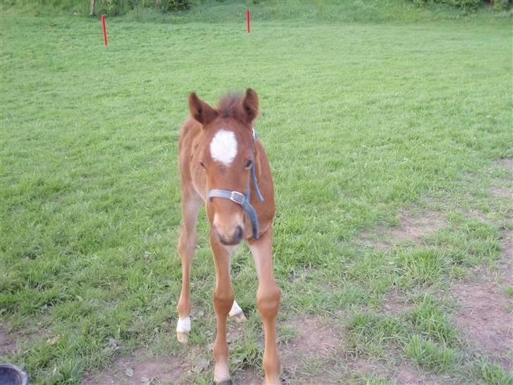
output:
<instances>
[{"instance_id":1,"label":"foal's hind leg with white sock, leftmost of its legs","mask_svg":"<svg viewBox=\"0 0 513 385\"><path fill-rule=\"evenodd\" d=\"M196 221L202 198L196 192L182 194L182 218L178 239L178 255L182 260L182 291L178 300L178 324L176 337L181 343L187 343L190 332L190 268L197 243Z\"/></svg>"}]
</instances>

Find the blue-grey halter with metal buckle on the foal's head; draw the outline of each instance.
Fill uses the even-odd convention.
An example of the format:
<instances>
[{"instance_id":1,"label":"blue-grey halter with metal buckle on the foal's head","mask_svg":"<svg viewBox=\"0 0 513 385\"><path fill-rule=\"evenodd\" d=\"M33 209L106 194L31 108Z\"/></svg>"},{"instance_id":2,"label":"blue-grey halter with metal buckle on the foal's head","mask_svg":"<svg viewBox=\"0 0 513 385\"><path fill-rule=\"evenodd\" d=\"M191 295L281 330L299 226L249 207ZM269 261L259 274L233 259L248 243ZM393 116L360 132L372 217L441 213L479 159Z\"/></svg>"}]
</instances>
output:
<instances>
[{"instance_id":1,"label":"blue-grey halter with metal buckle on the foal's head","mask_svg":"<svg viewBox=\"0 0 513 385\"><path fill-rule=\"evenodd\" d=\"M254 158L254 142L257 141L257 131L253 131L253 158ZM240 204L242 206L242 209L244 209L245 212L247 212L247 215L249 216L249 219L251 219L251 224L253 226L253 238L259 239L260 233L259 233L259 219L257 216L257 212L254 210L253 206L249 203L249 193L251 191L251 181L253 181L254 190L255 193L257 193L257 197L259 198L260 202L264 202L264 197L260 193L259 184L257 182L257 174L254 170L254 159L253 163L251 165L251 178L247 181L247 189L244 194L239 193L238 191L232 191L232 190L220 190L218 188L214 188L209 191L209 200L212 202L213 197L218 198L225 198L229 199L232 202L235 202L237 204Z\"/></svg>"}]
</instances>

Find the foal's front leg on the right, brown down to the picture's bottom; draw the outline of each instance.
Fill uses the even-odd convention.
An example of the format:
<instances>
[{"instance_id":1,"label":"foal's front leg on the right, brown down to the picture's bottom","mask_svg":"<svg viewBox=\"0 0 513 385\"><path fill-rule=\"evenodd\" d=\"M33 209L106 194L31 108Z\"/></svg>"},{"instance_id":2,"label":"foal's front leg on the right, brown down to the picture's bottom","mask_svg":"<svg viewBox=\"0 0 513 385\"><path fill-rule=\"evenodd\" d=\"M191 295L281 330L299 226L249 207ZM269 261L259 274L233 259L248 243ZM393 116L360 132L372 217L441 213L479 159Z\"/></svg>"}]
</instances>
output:
<instances>
[{"instance_id":1,"label":"foal's front leg on the right, brown down to the picture's bottom","mask_svg":"<svg viewBox=\"0 0 513 385\"><path fill-rule=\"evenodd\" d=\"M262 360L266 374L264 384L280 383L280 356L278 355L278 346L276 346L276 317L278 317L281 292L274 279L272 243L272 228L262 234L259 240L248 241L259 275L257 306L264 323L266 341Z\"/></svg>"}]
</instances>

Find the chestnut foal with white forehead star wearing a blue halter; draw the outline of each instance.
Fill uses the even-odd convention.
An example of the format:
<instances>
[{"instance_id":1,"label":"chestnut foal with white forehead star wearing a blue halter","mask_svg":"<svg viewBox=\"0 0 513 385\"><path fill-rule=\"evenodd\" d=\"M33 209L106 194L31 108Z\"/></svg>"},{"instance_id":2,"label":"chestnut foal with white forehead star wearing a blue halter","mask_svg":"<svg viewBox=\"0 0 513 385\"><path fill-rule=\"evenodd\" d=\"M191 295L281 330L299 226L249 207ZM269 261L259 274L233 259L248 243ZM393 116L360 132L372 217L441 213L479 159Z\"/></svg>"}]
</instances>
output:
<instances>
[{"instance_id":1,"label":"chestnut foal with white forehead star wearing a blue halter","mask_svg":"<svg viewBox=\"0 0 513 385\"><path fill-rule=\"evenodd\" d=\"M235 302L230 281L230 257L245 240L252 252L259 287L257 306L264 322L264 384L278 384L280 357L276 346L276 317L280 289L272 263L274 192L271 168L253 130L259 113L257 92L228 95L216 109L189 96L191 116L180 131L180 181L183 225L178 240L182 260L182 292L178 301L178 341L187 343L190 332L190 268L197 242L196 221L205 202L210 222L210 244L216 266L214 310L217 319L214 343L214 381L231 384L228 372L226 320L244 320Z\"/></svg>"}]
</instances>

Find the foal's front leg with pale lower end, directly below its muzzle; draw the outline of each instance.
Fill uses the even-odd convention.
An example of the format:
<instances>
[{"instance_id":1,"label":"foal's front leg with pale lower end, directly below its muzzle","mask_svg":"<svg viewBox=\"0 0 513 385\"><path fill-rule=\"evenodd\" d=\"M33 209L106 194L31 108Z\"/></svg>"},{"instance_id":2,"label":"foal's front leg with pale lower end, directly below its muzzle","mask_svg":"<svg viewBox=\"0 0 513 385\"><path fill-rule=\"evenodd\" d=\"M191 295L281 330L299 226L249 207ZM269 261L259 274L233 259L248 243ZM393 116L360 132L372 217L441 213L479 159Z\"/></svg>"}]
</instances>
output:
<instances>
[{"instance_id":1,"label":"foal's front leg with pale lower end, directly below its muzzle","mask_svg":"<svg viewBox=\"0 0 513 385\"><path fill-rule=\"evenodd\" d=\"M216 311L217 333L214 343L214 381L216 384L231 384L228 369L228 343L226 343L226 320L233 306L235 293L230 279L230 257L232 247L218 243L214 231L210 232L210 244L216 265L216 290L214 310Z\"/></svg>"}]
</instances>

